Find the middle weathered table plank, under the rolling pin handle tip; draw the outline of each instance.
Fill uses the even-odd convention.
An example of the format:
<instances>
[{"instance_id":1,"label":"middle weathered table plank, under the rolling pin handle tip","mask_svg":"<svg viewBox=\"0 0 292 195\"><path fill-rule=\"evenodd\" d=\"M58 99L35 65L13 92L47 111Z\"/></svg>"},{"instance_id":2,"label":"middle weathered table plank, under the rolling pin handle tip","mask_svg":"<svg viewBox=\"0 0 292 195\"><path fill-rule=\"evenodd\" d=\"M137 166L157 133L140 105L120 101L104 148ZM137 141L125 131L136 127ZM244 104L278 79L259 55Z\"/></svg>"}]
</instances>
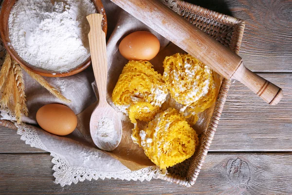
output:
<instances>
[{"instance_id":1,"label":"middle weathered table plank, under the rolling pin handle tip","mask_svg":"<svg viewBox=\"0 0 292 195\"><path fill-rule=\"evenodd\" d=\"M244 85L230 87L210 151L292 151L292 74L260 74L284 90L270 106ZM31 148L15 130L0 130L0 153L42 152Z\"/></svg>"}]
</instances>

